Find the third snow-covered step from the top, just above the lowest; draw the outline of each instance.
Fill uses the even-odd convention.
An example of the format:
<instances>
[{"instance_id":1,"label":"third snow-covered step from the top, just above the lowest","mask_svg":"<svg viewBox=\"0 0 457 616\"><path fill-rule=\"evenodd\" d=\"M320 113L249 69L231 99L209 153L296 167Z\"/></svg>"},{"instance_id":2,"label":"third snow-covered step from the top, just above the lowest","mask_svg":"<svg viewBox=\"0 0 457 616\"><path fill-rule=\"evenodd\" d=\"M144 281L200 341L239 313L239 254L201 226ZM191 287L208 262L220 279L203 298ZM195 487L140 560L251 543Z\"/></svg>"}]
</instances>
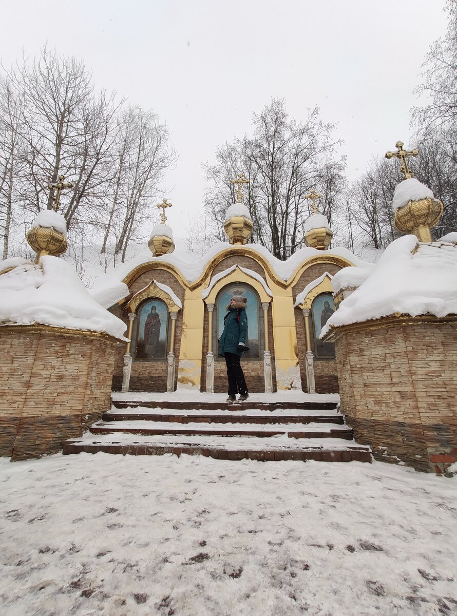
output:
<instances>
[{"instance_id":1,"label":"third snow-covered step from the top, just above the lowest","mask_svg":"<svg viewBox=\"0 0 457 616\"><path fill-rule=\"evenodd\" d=\"M232 418L233 419L233 418ZM246 418L247 419L247 418ZM92 434L108 432L128 432L145 435L209 435L209 436L258 436L273 437L286 434L294 439L335 437L352 440L352 430L333 423L282 423L277 418L275 424L252 423L203 423L189 421L177 424L171 421L147 421L129 419L127 421L99 421L91 427Z\"/></svg>"}]
</instances>

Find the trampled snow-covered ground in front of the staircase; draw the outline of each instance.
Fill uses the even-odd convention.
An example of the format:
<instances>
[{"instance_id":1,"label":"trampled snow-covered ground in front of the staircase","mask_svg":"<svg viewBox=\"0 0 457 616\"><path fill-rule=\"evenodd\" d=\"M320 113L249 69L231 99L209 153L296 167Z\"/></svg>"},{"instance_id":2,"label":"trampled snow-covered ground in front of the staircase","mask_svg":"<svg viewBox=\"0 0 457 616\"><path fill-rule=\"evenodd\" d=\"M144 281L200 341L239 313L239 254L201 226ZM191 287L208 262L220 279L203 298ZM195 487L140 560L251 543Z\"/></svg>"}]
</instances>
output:
<instances>
[{"instance_id":1,"label":"trampled snow-covered ground in front of the staircase","mask_svg":"<svg viewBox=\"0 0 457 616\"><path fill-rule=\"evenodd\" d=\"M0 614L457 614L457 478L382 463L0 460Z\"/></svg>"}]
</instances>

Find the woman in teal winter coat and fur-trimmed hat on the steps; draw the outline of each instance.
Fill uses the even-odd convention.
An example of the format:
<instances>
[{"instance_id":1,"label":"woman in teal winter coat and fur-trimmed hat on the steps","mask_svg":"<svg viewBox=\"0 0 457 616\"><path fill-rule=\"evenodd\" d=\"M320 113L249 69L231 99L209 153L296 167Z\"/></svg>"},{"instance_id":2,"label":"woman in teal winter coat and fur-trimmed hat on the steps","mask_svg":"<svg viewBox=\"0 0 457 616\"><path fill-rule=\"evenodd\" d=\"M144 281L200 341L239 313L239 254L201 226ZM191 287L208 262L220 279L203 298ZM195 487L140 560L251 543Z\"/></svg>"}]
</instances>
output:
<instances>
[{"instance_id":1,"label":"woman in teal winter coat and fur-trimmed hat on the steps","mask_svg":"<svg viewBox=\"0 0 457 616\"><path fill-rule=\"evenodd\" d=\"M227 402L235 402L237 394L240 394L238 402L243 402L249 397L245 375L241 368L241 355L249 351L245 346L248 336L248 315L246 315L246 302L248 298L234 295L227 306L227 314L224 317L224 331L219 338L219 355L223 355L227 364L227 376L229 378L229 397Z\"/></svg>"}]
</instances>

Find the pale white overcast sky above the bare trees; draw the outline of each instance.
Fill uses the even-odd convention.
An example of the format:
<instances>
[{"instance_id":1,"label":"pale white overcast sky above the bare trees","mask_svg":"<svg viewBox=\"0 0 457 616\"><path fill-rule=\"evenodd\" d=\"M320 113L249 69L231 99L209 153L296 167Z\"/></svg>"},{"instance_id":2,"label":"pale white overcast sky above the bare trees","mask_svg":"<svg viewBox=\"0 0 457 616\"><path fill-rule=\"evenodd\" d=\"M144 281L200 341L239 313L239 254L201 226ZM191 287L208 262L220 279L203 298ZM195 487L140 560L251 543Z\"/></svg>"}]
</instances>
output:
<instances>
[{"instance_id":1,"label":"pale white overcast sky above the bare trees","mask_svg":"<svg viewBox=\"0 0 457 616\"><path fill-rule=\"evenodd\" d=\"M338 123L348 172L411 135L413 88L445 33L445 0L3 0L0 55L46 41L168 123L179 154L165 187L175 237L201 207L201 163L251 131L254 111L284 98L297 121L318 105ZM392 163L393 164L393 163ZM241 170L242 171L242 170Z\"/></svg>"}]
</instances>

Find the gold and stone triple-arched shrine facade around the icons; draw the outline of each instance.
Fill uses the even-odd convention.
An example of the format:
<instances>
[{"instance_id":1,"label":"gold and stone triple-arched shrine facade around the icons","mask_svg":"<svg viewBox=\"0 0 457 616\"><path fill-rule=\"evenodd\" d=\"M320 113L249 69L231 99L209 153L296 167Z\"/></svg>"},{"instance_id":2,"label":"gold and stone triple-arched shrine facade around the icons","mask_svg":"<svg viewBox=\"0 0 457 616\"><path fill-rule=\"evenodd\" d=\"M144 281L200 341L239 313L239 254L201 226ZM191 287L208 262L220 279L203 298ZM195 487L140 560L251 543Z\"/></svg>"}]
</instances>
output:
<instances>
[{"instance_id":1,"label":"gold and stone triple-arched shrine facade around the icons","mask_svg":"<svg viewBox=\"0 0 457 616\"><path fill-rule=\"evenodd\" d=\"M305 259L288 280L284 280L275 272L270 260L255 248L227 246L208 261L198 277L189 281L176 265L158 257L129 272L124 282L130 294L112 310L129 323L129 314L132 315L145 299L159 298L166 302L175 331L169 349L176 356L174 387L225 392L223 362L214 362L211 377L208 376L208 362L214 361L215 355L214 304L218 294L227 286L245 285L255 291L261 304L262 352L256 360L244 363L250 391L267 391L262 357L265 351L271 355L272 391L307 391L305 354L309 351L309 344L303 310L310 308L313 298L320 293L331 293L331 276L348 265L353 264L341 256L323 251ZM297 296L325 273L330 277L313 287L304 301L296 306ZM119 354L113 381L117 390L120 389L122 365ZM334 360L319 360L315 366L316 391L338 391ZM130 391L166 391L166 370L165 361L133 360Z\"/></svg>"}]
</instances>

